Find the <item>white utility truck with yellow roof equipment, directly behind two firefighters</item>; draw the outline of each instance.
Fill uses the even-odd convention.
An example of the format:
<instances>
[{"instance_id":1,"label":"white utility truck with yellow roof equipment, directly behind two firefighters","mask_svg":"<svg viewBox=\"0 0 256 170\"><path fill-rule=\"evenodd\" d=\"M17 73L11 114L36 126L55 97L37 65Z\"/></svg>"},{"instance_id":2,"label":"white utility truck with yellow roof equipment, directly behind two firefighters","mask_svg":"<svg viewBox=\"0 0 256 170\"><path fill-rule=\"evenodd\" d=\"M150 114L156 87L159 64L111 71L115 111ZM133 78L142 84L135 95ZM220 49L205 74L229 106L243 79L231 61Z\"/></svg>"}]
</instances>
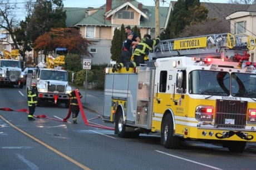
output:
<instances>
[{"instance_id":1,"label":"white utility truck with yellow roof equipment, directly behind two firefighters","mask_svg":"<svg viewBox=\"0 0 256 170\"><path fill-rule=\"evenodd\" d=\"M50 56L47 56L47 58ZM38 64L33 73L27 74L27 91L31 89L32 83L37 84L37 106L41 106L43 101L52 102L53 104L65 104L65 107L70 106L70 98L68 94L72 91L68 85L67 71L62 69L62 64L65 64L64 56L61 56L60 62L55 58L56 62L51 58L52 64Z\"/></svg>"}]
</instances>

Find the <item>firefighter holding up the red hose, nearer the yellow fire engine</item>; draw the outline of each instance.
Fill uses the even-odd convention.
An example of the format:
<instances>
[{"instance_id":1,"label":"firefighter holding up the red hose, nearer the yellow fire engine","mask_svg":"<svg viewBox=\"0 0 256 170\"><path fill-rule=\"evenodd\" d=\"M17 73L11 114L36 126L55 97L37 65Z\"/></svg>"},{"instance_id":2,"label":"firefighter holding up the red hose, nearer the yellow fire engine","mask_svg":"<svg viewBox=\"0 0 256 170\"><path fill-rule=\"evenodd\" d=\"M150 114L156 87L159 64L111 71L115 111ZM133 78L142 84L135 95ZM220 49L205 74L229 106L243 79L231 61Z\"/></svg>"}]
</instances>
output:
<instances>
[{"instance_id":1,"label":"firefighter holding up the red hose, nearer the yellow fire engine","mask_svg":"<svg viewBox=\"0 0 256 170\"><path fill-rule=\"evenodd\" d=\"M77 101L77 96L75 91L77 91L79 94L79 97L82 98L82 95L79 92L78 88L76 88L75 90L72 90L72 92L68 94L68 96L70 96L70 105L71 105L73 123L77 124L76 120L79 114L79 106L78 106L78 101Z\"/></svg>"}]
</instances>

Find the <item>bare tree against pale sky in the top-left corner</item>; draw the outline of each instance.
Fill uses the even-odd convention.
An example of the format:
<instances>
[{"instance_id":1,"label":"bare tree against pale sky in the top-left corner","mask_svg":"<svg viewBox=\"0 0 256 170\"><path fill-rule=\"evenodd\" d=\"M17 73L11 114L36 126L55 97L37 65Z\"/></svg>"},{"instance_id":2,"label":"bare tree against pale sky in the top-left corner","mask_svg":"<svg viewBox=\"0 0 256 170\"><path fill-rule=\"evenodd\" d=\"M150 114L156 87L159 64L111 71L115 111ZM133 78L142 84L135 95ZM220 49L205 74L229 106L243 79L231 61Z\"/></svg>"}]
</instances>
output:
<instances>
[{"instance_id":1,"label":"bare tree against pale sky in the top-left corner","mask_svg":"<svg viewBox=\"0 0 256 170\"><path fill-rule=\"evenodd\" d=\"M5 29L13 40L15 49L18 48L18 43L15 39L14 30L18 28L19 22L15 11L17 3L9 0L0 0L0 29Z\"/></svg>"}]
</instances>

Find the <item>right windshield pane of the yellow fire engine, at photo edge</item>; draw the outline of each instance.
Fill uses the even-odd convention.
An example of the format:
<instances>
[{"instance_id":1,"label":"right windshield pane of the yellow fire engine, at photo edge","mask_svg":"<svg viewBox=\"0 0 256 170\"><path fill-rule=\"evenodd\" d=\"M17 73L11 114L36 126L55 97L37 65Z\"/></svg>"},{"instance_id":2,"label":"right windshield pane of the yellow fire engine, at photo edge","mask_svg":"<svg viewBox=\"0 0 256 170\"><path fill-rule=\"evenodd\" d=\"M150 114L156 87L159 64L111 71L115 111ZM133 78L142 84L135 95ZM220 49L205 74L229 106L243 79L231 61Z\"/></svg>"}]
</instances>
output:
<instances>
[{"instance_id":1,"label":"right windshield pane of the yellow fire engine, at photo edge","mask_svg":"<svg viewBox=\"0 0 256 170\"><path fill-rule=\"evenodd\" d=\"M256 75L232 73L231 95L236 97L256 98Z\"/></svg>"}]
</instances>

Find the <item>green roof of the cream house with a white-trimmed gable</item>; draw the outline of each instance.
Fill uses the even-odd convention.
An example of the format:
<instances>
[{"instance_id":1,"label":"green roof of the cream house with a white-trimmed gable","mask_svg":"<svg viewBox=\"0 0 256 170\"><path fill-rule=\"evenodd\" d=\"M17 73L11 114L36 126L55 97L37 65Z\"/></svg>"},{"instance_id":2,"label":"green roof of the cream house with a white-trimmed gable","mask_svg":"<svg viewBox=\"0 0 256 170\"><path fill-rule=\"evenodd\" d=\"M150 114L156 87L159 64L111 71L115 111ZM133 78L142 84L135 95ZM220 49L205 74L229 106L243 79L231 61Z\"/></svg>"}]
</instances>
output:
<instances>
[{"instance_id":1,"label":"green roof of the cream house with a white-trimmed gable","mask_svg":"<svg viewBox=\"0 0 256 170\"><path fill-rule=\"evenodd\" d=\"M98 8L98 11L86 17L85 12L88 8L63 8L66 11L67 27L75 27L82 25L96 25L96 26L112 26L110 20L106 20L106 16L109 17L112 14L115 14L122 7L129 6L135 11L139 12L143 19L140 21L140 25L137 27L146 27L146 28L155 28L155 7L154 6L144 6L142 5L142 11L138 7L139 2L137 1L125 1L125 0L112 0L112 8L109 12L106 13L106 4ZM160 12L160 28L164 28L166 22L166 16L168 13L169 7L159 7ZM76 17L77 16L77 17Z\"/></svg>"}]
</instances>

